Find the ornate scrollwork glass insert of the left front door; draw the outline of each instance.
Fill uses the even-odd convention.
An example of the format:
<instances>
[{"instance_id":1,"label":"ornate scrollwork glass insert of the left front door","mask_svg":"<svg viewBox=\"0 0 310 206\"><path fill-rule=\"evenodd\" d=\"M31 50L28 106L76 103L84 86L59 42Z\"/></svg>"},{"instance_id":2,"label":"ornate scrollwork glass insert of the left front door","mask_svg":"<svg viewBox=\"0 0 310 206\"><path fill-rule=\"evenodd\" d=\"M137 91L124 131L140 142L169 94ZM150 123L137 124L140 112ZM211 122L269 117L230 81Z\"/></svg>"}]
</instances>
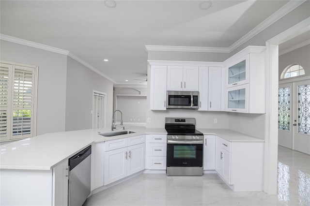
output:
<instances>
[{"instance_id":1,"label":"ornate scrollwork glass insert of the left front door","mask_svg":"<svg viewBox=\"0 0 310 206\"><path fill-rule=\"evenodd\" d=\"M290 88L279 88L278 129L290 131Z\"/></svg>"}]
</instances>

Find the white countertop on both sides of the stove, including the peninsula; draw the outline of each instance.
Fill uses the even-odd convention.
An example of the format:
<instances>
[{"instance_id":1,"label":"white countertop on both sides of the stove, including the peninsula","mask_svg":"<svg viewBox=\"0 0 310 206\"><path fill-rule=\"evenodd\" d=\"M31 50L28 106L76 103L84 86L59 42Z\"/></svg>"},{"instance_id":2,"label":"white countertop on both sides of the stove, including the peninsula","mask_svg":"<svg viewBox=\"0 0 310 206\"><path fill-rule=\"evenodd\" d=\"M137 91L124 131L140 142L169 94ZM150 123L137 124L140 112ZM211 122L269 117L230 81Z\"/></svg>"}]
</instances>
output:
<instances>
[{"instance_id":1,"label":"white countertop on both sides of the stove, including the peninsula","mask_svg":"<svg viewBox=\"0 0 310 206\"><path fill-rule=\"evenodd\" d=\"M92 143L141 134L167 134L164 128L125 127L135 133L104 137L100 130L54 132L15 141L1 146L0 169L51 170ZM203 134L215 134L231 142L264 142L264 140L227 129L197 129ZM121 130L119 130L121 131ZM117 132L117 131L115 131Z\"/></svg>"}]
</instances>

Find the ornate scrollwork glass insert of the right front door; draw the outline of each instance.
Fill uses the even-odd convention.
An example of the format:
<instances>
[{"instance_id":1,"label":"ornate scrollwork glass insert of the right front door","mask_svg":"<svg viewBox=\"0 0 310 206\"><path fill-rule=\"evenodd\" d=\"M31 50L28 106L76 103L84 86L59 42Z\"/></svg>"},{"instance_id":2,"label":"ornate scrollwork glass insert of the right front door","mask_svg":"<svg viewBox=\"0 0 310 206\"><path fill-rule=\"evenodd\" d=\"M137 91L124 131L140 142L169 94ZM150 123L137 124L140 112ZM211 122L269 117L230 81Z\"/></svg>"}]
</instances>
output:
<instances>
[{"instance_id":1,"label":"ornate scrollwork glass insert of the right front door","mask_svg":"<svg viewBox=\"0 0 310 206\"><path fill-rule=\"evenodd\" d=\"M310 85L298 86L298 133L310 134Z\"/></svg>"}]
</instances>

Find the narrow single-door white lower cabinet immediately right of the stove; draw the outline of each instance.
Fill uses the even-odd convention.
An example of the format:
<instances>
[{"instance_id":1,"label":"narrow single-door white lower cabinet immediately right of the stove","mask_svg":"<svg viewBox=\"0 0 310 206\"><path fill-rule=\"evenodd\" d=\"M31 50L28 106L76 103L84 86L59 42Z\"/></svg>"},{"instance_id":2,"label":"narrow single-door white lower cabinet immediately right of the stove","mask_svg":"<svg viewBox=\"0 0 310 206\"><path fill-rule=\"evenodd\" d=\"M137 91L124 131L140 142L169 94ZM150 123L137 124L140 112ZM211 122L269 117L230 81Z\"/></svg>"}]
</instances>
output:
<instances>
[{"instance_id":1,"label":"narrow single-door white lower cabinet immediately right of the stove","mask_svg":"<svg viewBox=\"0 0 310 206\"><path fill-rule=\"evenodd\" d=\"M203 137L203 170L215 170L215 135Z\"/></svg>"}]
</instances>

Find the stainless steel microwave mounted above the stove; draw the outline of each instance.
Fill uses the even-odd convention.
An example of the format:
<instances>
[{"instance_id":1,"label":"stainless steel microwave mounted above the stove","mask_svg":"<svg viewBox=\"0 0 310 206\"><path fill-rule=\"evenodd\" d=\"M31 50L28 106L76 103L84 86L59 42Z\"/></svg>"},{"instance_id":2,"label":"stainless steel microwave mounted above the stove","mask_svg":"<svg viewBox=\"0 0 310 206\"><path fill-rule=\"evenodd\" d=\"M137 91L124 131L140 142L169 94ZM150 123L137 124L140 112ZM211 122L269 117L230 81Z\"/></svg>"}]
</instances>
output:
<instances>
[{"instance_id":1,"label":"stainless steel microwave mounted above the stove","mask_svg":"<svg viewBox=\"0 0 310 206\"><path fill-rule=\"evenodd\" d=\"M198 91L167 91L167 109L198 109Z\"/></svg>"}]
</instances>

